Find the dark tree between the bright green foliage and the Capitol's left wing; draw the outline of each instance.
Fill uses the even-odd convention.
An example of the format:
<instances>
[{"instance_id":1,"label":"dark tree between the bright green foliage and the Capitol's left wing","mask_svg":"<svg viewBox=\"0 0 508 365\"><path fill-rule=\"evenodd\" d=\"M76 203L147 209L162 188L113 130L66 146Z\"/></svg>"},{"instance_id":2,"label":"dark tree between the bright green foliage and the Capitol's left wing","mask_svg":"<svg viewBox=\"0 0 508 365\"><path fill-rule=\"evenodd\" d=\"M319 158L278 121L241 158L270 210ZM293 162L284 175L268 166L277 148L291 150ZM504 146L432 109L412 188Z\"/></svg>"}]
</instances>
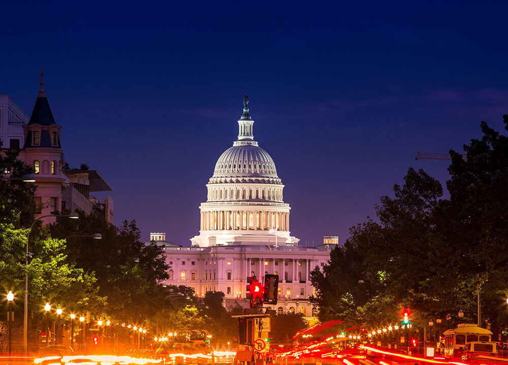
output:
<instances>
[{"instance_id":1,"label":"dark tree between the bright green foliage and the Capitol's left wing","mask_svg":"<svg viewBox=\"0 0 508 365\"><path fill-rule=\"evenodd\" d=\"M97 278L98 294L106 298L99 313L143 321L165 308L168 292L159 284L168 277L163 249L140 242L135 221L116 227L93 214L80 213L79 219L59 220L50 229L54 237L70 236L69 259ZM101 233L102 239L72 237L93 233Z\"/></svg>"}]
</instances>

